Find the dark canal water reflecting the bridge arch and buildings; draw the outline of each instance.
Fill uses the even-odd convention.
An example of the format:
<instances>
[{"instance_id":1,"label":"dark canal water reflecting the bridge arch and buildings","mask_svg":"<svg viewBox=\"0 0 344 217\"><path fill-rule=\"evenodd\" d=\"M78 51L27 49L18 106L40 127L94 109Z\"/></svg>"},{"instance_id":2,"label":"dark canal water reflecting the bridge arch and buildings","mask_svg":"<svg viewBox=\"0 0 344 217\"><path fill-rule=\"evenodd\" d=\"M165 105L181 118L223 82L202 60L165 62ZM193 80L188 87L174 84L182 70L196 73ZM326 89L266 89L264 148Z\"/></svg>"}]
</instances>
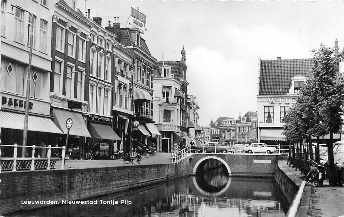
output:
<instances>
[{"instance_id":1,"label":"dark canal water reflecting the bridge arch and buildings","mask_svg":"<svg viewBox=\"0 0 344 217\"><path fill-rule=\"evenodd\" d=\"M61 198L58 203L5 216L279 217L289 208L273 179L229 177L221 165L205 167L197 176L83 201Z\"/></svg>"}]
</instances>

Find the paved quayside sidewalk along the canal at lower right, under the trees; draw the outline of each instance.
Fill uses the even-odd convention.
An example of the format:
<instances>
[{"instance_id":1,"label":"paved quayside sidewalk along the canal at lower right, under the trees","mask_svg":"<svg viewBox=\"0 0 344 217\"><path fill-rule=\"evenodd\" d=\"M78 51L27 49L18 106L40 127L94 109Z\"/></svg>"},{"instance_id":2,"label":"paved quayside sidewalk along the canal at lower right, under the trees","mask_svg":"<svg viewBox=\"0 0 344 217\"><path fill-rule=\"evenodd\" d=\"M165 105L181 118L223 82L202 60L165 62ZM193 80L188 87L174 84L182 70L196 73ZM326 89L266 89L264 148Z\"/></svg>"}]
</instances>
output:
<instances>
[{"instance_id":1,"label":"paved quayside sidewalk along the canal at lower right, under the trees","mask_svg":"<svg viewBox=\"0 0 344 217\"><path fill-rule=\"evenodd\" d=\"M280 160L278 166L298 186L301 185L305 175L300 174L299 170L289 167L286 160ZM330 187L327 180L323 187L313 187L309 183L304 189L297 216L344 216L344 186Z\"/></svg>"}]
</instances>

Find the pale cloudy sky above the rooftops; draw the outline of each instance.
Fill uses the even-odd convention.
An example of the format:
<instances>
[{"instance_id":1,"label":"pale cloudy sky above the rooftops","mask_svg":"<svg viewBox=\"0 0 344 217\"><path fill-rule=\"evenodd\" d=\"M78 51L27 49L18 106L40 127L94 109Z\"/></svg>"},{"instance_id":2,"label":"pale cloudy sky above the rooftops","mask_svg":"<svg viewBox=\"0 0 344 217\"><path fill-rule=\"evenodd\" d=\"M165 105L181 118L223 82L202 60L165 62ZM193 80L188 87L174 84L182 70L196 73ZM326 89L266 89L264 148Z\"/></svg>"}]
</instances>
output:
<instances>
[{"instance_id":1,"label":"pale cloudy sky above the rooftops","mask_svg":"<svg viewBox=\"0 0 344 217\"><path fill-rule=\"evenodd\" d=\"M184 46L187 93L196 96L201 126L257 111L260 58L312 58L336 38L344 45L344 1L79 1L103 26L115 16L128 26L130 8L139 8L142 37L158 61L181 60Z\"/></svg>"}]
</instances>

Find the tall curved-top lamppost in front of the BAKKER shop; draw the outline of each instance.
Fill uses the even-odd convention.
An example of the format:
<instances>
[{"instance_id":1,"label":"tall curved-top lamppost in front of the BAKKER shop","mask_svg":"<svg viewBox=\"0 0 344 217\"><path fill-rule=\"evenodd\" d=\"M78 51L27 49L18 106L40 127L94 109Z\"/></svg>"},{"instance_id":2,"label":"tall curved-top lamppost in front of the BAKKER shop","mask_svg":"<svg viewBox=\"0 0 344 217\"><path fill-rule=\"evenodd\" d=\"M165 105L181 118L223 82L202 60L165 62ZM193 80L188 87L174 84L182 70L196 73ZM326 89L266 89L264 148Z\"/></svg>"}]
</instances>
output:
<instances>
[{"instance_id":1,"label":"tall curved-top lamppost in front of the BAKKER shop","mask_svg":"<svg viewBox=\"0 0 344 217\"><path fill-rule=\"evenodd\" d=\"M18 5L11 4L12 11L14 8L17 8L21 11L28 12L32 18L32 24L34 16L27 10L24 10ZM29 101L30 101L30 86L31 86L31 60L32 60L32 43L33 43L33 25L31 26L30 32L30 50L29 50L29 69L28 69L28 78L26 80L26 101L25 101L25 115L24 115L24 129L23 129L23 146L26 146L28 140L28 118L29 118ZM25 155L25 147L23 147L23 155Z\"/></svg>"}]
</instances>

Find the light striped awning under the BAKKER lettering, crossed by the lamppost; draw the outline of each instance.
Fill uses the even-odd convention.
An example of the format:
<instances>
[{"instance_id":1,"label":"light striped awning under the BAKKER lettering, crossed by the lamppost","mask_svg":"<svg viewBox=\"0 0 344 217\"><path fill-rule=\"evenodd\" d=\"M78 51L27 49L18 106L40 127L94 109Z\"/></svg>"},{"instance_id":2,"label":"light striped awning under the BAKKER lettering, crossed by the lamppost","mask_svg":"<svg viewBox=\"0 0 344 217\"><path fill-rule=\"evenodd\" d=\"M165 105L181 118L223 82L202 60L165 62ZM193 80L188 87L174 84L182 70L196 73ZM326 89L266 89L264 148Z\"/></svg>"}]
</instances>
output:
<instances>
[{"instance_id":1,"label":"light striped awning under the BAKKER lettering, crossed by the lamppost","mask_svg":"<svg viewBox=\"0 0 344 217\"><path fill-rule=\"evenodd\" d=\"M23 130L24 114L1 111L0 127ZM54 124L54 122L50 118L34 115L28 116L28 130L63 134L63 132Z\"/></svg>"}]
</instances>

